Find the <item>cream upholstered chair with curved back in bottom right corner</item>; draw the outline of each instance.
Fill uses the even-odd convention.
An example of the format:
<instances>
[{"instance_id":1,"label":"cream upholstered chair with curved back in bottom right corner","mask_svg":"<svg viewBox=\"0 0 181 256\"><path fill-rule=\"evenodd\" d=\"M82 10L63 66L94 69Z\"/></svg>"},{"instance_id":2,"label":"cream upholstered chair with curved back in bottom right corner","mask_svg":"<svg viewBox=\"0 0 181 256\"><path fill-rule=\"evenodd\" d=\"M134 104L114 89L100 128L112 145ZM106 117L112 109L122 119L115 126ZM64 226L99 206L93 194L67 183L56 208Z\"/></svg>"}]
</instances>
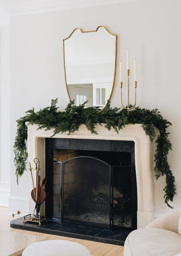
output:
<instances>
[{"instance_id":1,"label":"cream upholstered chair with curved back in bottom right corner","mask_svg":"<svg viewBox=\"0 0 181 256\"><path fill-rule=\"evenodd\" d=\"M181 209L131 232L124 256L181 256Z\"/></svg>"}]
</instances>

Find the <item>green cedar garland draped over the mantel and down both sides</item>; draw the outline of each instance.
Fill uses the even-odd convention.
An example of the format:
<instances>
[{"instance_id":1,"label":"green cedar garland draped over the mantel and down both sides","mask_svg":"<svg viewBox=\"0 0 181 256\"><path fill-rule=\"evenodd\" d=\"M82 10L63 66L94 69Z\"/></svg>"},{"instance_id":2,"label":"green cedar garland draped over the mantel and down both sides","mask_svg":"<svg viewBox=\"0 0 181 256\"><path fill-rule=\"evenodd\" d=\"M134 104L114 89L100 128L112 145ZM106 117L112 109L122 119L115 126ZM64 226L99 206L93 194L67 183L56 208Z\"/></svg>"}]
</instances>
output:
<instances>
[{"instance_id":1,"label":"green cedar garland draped over the mantel and down both sides","mask_svg":"<svg viewBox=\"0 0 181 256\"><path fill-rule=\"evenodd\" d=\"M157 149L154 155L154 172L156 179L165 175L166 186L164 188L164 199L168 207L172 208L168 201L173 201L174 195L176 195L176 187L174 185L174 176L168 164L167 156L168 151L171 150L171 142L168 138L169 133L166 131L171 123L163 119L158 109L148 110L136 107L127 116L127 110L111 108L110 102L107 102L104 110L97 114L100 111L99 107L84 108L86 102L80 106L73 106L72 103L74 102L70 102L65 111L60 112L57 111L58 108L56 107L57 99L54 99L50 107L40 109L37 113L34 112L34 108L30 109L26 112L26 116L17 120L17 136L15 137L14 143L14 164L16 167L17 183L18 178L26 170L26 122L29 122L29 124L38 124L38 129L53 129L54 135L67 131L68 134L74 133L79 130L81 124L84 124L91 133L97 134L95 130L96 124L104 124L108 130L111 130L111 127L113 127L118 133L128 123L141 123L146 135L149 136L151 141L156 136L154 126L160 132L156 140Z\"/></svg>"}]
</instances>

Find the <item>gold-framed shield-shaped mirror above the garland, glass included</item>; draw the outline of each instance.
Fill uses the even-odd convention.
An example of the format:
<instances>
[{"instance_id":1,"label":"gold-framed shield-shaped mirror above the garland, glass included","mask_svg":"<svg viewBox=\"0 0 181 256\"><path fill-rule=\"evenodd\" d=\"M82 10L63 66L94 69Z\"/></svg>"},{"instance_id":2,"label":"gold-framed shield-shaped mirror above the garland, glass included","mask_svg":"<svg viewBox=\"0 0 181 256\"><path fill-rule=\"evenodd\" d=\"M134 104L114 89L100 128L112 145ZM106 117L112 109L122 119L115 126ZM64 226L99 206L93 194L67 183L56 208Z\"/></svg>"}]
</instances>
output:
<instances>
[{"instance_id":1,"label":"gold-framed shield-shaped mirror above the garland, glass included","mask_svg":"<svg viewBox=\"0 0 181 256\"><path fill-rule=\"evenodd\" d=\"M64 43L64 72L69 99L75 105L106 106L116 70L117 35L105 27L96 31L75 28Z\"/></svg>"}]
</instances>

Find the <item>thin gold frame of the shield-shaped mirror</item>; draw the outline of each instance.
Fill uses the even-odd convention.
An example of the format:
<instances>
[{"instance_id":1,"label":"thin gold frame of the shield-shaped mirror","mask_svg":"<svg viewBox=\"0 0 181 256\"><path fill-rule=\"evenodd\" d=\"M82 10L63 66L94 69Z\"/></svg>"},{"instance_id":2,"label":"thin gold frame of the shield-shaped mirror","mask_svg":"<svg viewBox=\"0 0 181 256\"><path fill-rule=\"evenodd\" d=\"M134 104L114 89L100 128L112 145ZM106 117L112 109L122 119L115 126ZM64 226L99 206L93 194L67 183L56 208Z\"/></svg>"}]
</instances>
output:
<instances>
[{"instance_id":1,"label":"thin gold frame of the shield-shaped mirror","mask_svg":"<svg viewBox=\"0 0 181 256\"><path fill-rule=\"evenodd\" d=\"M90 32L97 32L97 30L100 28L100 27L104 27L104 26L98 26L96 28L96 30L93 30L93 31L82 31L80 28L75 28L72 33L65 39L63 39L63 54L64 54L64 75L65 75L65 84L66 84L66 89L67 89L67 94L68 94L68 97L69 97L69 100L70 102L72 101L72 99L70 99L70 95L69 95L69 92L68 92L68 87L67 87L67 78L66 78L66 70L65 70L65 40L67 40L68 38L71 37L71 35L74 33L74 31L76 31L77 29L79 29L81 31L81 33L90 33ZM116 55L117 55L117 35L116 34L112 34L110 33L106 27L104 27L104 29L111 35L115 36L115 64L114 64L114 78L113 78L113 84L112 84L112 89L111 89L111 93L110 93L110 96L109 96L109 99L111 99L111 95L112 95L112 92L113 92L113 88L114 88L114 81L115 81L115 73L116 73ZM74 104L72 104L74 106ZM107 103L105 104L105 106L97 113L100 113L105 107L106 107Z\"/></svg>"}]
</instances>

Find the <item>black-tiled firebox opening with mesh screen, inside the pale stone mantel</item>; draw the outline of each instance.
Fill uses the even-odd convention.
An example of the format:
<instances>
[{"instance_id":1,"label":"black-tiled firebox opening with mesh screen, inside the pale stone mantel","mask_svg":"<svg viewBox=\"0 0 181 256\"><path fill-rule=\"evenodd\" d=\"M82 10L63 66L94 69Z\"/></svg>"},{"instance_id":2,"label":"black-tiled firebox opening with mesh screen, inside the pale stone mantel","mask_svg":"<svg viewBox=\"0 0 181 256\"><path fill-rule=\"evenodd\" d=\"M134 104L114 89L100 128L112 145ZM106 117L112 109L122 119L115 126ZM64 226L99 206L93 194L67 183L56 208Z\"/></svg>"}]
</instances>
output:
<instances>
[{"instance_id":1,"label":"black-tiled firebox opening with mesh screen, inside the pale stone mantel","mask_svg":"<svg viewBox=\"0 0 181 256\"><path fill-rule=\"evenodd\" d=\"M136 229L134 142L46 139L46 177L48 217L108 229Z\"/></svg>"}]
</instances>

